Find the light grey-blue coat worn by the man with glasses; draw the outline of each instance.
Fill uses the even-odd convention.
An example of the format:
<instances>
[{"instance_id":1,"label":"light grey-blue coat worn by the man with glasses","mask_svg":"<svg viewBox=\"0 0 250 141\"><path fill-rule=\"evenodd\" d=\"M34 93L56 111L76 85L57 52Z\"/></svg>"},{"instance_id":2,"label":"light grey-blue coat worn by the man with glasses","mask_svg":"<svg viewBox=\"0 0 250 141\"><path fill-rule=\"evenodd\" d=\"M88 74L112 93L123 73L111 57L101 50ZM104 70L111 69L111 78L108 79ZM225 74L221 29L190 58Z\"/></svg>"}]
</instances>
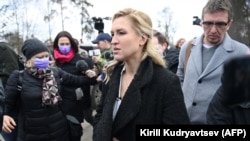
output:
<instances>
[{"instance_id":1,"label":"light grey-blue coat worn by the man with glasses","mask_svg":"<svg viewBox=\"0 0 250 141\"><path fill-rule=\"evenodd\" d=\"M207 124L207 108L221 85L224 62L249 51L246 45L231 39L226 34L224 41L217 47L205 70L202 71L203 36L197 37L193 42L185 75L184 60L188 42L184 43L179 55L179 66L176 73L183 82L182 90L192 124Z\"/></svg>"}]
</instances>

